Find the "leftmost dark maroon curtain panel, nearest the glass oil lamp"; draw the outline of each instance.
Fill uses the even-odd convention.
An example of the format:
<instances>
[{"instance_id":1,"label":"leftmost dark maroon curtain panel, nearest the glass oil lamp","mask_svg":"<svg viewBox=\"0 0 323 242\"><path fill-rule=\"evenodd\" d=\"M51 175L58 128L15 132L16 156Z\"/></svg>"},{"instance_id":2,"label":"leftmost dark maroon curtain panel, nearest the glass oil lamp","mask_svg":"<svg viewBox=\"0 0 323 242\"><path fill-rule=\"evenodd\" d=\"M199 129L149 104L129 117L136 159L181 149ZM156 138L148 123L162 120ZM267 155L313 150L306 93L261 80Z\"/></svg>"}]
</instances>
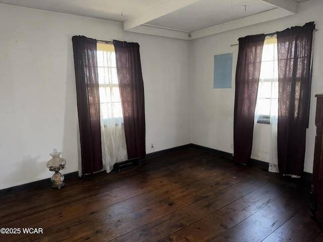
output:
<instances>
[{"instance_id":1,"label":"leftmost dark maroon curtain panel, nearest the glass oil lamp","mask_svg":"<svg viewBox=\"0 0 323 242\"><path fill-rule=\"evenodd\" d=\"M96 40L73 36L77 110L83 174L102 169Z\"/></svg>"}]
</instances>

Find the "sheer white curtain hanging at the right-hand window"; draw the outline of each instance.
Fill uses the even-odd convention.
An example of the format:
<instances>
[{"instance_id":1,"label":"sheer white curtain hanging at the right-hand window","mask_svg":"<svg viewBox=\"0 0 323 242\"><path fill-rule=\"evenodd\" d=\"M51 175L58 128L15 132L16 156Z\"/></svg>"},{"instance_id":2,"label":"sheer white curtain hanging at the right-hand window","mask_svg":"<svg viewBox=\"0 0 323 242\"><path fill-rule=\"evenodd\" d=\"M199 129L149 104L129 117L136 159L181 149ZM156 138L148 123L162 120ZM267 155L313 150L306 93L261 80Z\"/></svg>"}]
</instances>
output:
<instances>
[{"instance_id":1,"label":"sheer white curtain hanging at the right-hand window","mask_svg":"<svg viewBox=\"0 0 323 242\"><path fill-rule=\"evenodd\" d=\"M276 36L267 36L263 43L255 124L259 115L270 116L270 161L268 171L279 172L277 158L278 120L278 49Z\"/></svg>"}]
</instances>

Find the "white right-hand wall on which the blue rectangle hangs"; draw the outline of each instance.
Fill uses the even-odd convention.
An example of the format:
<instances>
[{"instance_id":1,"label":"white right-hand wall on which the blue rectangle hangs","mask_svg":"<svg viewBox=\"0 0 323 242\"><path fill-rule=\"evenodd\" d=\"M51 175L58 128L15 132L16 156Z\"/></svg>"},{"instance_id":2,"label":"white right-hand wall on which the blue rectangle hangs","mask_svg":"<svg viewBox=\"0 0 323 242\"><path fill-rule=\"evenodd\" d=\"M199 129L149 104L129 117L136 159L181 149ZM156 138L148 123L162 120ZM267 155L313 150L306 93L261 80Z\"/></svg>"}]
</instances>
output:
<instances>
[{"instance_id":1,"label":"white right-hand wall on which the blue rectangle hangs","mask_svg":"<svg viewBox=\"0 0 323 242\"><path fill-rule=\"evenodd\" d=\"M233 115L235 95L235 68L237 64L239 37L272 33L291 26L302 26L314 21L317 32L314 42L313 83L310 107L310 126L307 130L304 171L312 173L315 141L314 94L323 92L323 1L311 0L299 5L299 13L275 21L256 24L233 31L224 32L191 42L191 122L192 143L233 153ZM233 53L232 89L213 89L213 56ZM257 124L254 130L252 158L268 161L271 126Z\"/></svg>"}]
</instances>

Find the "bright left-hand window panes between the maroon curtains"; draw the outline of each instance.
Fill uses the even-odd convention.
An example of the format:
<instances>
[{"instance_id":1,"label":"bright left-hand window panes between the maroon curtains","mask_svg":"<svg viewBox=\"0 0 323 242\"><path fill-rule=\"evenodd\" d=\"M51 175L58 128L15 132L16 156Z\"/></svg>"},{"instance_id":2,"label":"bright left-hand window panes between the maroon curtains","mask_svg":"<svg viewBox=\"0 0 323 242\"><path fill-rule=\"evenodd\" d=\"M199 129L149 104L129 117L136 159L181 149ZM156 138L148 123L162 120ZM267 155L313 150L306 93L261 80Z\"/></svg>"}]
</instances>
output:
<instances>
[{"instance_id":1,"label":"bright left-hand window panes between the maroon curtains","mask_svg":"<svg viewBox=\"0 0 323 242\"><path fill-rule=\"evenodd\" d=\"M97 43L97 71L102 118L122 117L116 53L113 44Z\"/></svg>"}]
</instances>

